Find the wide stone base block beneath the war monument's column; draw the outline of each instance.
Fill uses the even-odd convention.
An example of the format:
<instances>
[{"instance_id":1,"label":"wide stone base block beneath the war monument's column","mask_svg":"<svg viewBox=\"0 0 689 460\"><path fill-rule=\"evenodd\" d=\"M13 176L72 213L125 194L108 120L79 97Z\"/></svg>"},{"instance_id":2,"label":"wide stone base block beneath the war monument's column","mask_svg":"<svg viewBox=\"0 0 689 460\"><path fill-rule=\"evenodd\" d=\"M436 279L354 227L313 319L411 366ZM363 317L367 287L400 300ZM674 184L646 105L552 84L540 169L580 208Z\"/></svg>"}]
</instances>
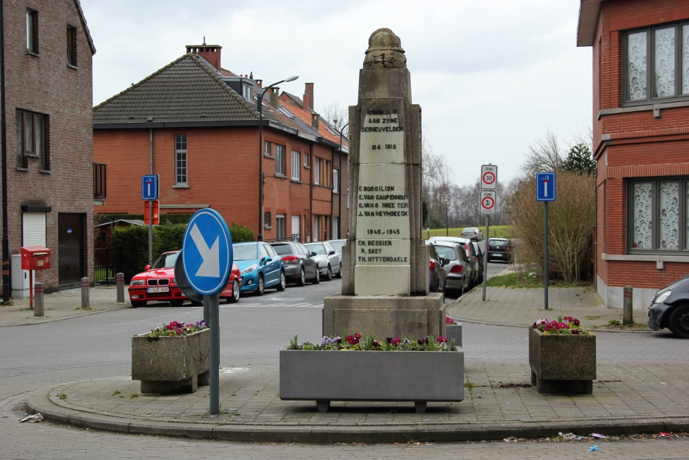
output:
<instances>
[{"instance_id":1,"label":"wide stone base block beneath the war monument's column","mask_svg":"<svg viewBox=\"0 0 689 460\"><path fill-rule=\"evenodd\" d=\"M333 295L323 302L323 335L358 332L376 339L422 339L445 335L445 304L441 292L426 296Z\"/></svg>"}]
</instances>

